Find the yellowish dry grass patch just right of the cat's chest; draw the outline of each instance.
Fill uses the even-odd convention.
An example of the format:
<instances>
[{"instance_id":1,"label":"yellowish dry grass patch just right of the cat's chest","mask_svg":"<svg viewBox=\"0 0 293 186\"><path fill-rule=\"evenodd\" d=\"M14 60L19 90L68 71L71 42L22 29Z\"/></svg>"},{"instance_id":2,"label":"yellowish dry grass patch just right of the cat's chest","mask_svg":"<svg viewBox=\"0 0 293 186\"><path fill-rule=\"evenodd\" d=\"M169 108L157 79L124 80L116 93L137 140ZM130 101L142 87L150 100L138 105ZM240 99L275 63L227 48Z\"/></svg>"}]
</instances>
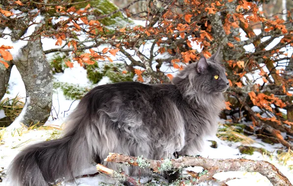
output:
<instances>
[{"instance_id":1,"label":"yellowish dry grass patch just right of the cat's chest","mask_svg":"<svg viewBox=\"0 0 293 186\"><path fill-rule=\"evenodd\" d=\"M240 133L239 127L220 124L217 132L217 137L221 140L229 140L234 142L241 142L242 144L252 144L255 140Z\"/></svg>"}]
</instances>

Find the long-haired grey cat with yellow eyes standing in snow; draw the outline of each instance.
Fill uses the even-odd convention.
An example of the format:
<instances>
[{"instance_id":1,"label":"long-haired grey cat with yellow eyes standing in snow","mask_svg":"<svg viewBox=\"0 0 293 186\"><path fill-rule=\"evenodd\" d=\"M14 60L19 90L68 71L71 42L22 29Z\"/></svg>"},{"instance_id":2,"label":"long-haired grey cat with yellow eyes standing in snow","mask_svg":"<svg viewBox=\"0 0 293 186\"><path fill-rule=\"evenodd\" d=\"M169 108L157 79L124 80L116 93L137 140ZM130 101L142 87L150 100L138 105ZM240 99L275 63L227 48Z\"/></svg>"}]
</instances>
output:
<instances>
[{"instance_id":1,"label":"long-haired grey cat with yellow eyes standing in snow","mask_svg":"<svg viewBox=\"0 0 293 186\"><path fill-rule=\"evenodd\" d=\"M8 174L13 186L49 186L72 179L88 163L104 163L109 152L160 160L177 152L195 155L214 135L229 87L217 51L188 65L173 84L121 82L95 87L69 116L61 139L31 145ZM137 167L124 167L126 174ZM142 170L142 174L147 170Z\"/></svg>"}]
</instances>

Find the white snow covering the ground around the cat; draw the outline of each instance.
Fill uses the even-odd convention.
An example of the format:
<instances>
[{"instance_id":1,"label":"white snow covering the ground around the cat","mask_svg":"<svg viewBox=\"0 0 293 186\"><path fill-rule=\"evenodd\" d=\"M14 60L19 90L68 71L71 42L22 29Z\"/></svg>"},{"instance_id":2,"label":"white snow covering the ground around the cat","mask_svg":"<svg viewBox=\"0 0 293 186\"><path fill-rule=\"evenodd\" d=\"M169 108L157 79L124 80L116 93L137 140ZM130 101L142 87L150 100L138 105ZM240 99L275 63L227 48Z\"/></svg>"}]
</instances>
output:
<instances>
[{"instance_id":1,"label":"white snow covering the ground around the cat","mask_svg":"<svg viewBox=\"0 0 293 186\"><path fill-rule=\"evenodd\" d=\"M90 83L87 80L86 71L79 66L75 66L73 69L66 69L64 73L59 73L54 75L59 81L63 82L75 82L80 85L88 86ZM103 83L107 83L104 81ZM18 70L14 67L12 70L11 78L9 81L9 94L5 94L5 97L15 97L16 94L19 94L22 97L25 97L25 87L21 80ZM46 125L54 125L55 127L60 126L76 105L78 101L75 101L72 104L73 100L66 99L62 93L62 90L58 89L54 92L53 95L53 106L56 110L52 112L52 116L50 116L49 120L46 122ZM72 105L71 105L72 104ZM70 107L71 105L71 107ZM69 110L70 107L70 110ZM69 111L67 111L69 110ZM64 111L67 111L64 115ZM0 116L1 115L0 111ZM57 117L58 116L58 117ZM11 129L12 130L12 129ZM4 168L4 173L9 166L9 163L13 160L18 152L20 152L26 146L33 144L35 142L39 142L42 140L52 139L59 136L61 131L57 129L50 130L29 130L19 129L18 132L16 130L7 131L4 134L3 142L4 144L0 145L0 167ZM265 148L267 151L274 152L273 156L266 156L259 152L254 152L252 156L240 154L238 150L238 146L241 145L240 142L230 142L223 141L216 137L211 138L212 140L216 140L218 147L211 148L210 142L206 141L205 149L201 153L203 157L208 158L246 158L252 160L266 160L272 164L274 164L280 171L289 178L289 180L293 183L293 170L290 170L288 166L283 166L282 163L279 163L276 158L276 150L282 148L281 144L269 145L267 143L262 142L261 140L256 140L256 143L251 144L255 147ZM209 139L209 140L211 140ZM293 164L293 162L288 162L289 164ZM201 169L197 169L200 171ZM3 173L2 172L2 173ZM94 167L91 167L87 173L93 173ZM269 186L270 182L266 177L262 176L259 173L247 173L247 172L226 172L226 173L218 173L214 176L216 179L224 181L228 178L235 178L234 180L230 180L227 182L229 186ZM141 181L147 181L147 178L142 179ZM76 181L76 183L80 186L98 186L100 182L105 183L115 183L115 180L109 179L109 177L98 175L96 177L90 178L80 178ZM6 186L7 178L4 176L3 182L0 183L0 186ZM65 185L74 185L74 183L66 183Z\"/></svg>"}]
</instances>

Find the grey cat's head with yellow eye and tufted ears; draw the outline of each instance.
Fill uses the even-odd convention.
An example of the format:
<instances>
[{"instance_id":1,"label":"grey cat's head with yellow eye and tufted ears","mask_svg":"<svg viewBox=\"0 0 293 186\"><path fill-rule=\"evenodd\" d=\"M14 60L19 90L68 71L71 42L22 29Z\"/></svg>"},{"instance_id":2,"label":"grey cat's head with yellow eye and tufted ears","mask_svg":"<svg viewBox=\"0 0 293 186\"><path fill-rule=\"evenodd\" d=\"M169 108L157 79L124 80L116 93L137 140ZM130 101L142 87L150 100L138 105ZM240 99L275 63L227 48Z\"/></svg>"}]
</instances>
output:
<instances>
[{"instance_id":1,"label":"grey cat's head with yellow eye and tufted ears","mask_svg":"<svg viewBox=\"0 0 293 186\"><path fill-rule=\"evenodd\" d=\"M208 59L202 57L197 63L187 65L173 78L173 83L189 96L225 92L229 81L224 67L220 65L219 51Z\"/></svg>"}]
</instances>

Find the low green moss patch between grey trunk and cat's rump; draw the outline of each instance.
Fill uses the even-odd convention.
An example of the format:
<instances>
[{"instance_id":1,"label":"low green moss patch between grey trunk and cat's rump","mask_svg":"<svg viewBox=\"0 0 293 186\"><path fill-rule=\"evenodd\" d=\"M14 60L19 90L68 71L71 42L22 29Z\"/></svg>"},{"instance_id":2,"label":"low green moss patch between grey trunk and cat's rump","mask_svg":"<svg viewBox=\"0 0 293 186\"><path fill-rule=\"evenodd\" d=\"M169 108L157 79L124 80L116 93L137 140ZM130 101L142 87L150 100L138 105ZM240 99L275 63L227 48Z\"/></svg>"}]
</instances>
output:
<instances>
[{"instance_id":1,"label":"low green moss patch between grey trunk and cat's rump","mask_svg":"<svg viewBox=\"0 0 293 186\"><path fill-rule=\"evenodd\" d=\"M88 87L81 87L79 85L61 82L54 82L53 87L54 89L60 88L65 97L69 99L81 99L91 89Z\"/></svg>"}]
</instances>

